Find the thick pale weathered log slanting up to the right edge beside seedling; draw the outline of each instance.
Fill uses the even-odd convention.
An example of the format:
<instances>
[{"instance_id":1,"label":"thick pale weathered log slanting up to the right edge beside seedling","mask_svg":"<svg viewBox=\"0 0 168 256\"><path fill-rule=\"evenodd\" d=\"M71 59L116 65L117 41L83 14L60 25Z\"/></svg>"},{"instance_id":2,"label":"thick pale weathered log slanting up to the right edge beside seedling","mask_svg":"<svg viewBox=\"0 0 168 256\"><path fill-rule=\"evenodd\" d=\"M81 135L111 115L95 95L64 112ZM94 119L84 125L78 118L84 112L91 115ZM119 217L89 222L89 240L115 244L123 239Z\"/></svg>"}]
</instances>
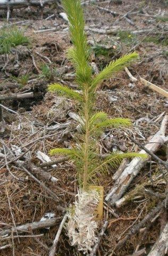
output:
<instances>
[{"instance_id":1,"label":"thick pale weathered log slanting up to the right edge beside seedling","mask_svg":"<svg viewBox=\"0 0 168 256\"><path fill-rule=\"evenodd\" d=\"M168 115L163 118L160 130L154 135L152 139L150 139L149 143L146 144L145 148L147 148L152 153L155 153L164 143L165 141L165 130L168 122ZM144 154L145 150L141 150L140 154ZM148 161L149 157L146 159L143 158L134 158L128 165L128 167L123 171L120 177L115 181L113 188L107 194L105 200L110 204L115 204L122 195L125 190L129 187L133 178L139 173L141 168Z\"/></svg>"}]
</instances>

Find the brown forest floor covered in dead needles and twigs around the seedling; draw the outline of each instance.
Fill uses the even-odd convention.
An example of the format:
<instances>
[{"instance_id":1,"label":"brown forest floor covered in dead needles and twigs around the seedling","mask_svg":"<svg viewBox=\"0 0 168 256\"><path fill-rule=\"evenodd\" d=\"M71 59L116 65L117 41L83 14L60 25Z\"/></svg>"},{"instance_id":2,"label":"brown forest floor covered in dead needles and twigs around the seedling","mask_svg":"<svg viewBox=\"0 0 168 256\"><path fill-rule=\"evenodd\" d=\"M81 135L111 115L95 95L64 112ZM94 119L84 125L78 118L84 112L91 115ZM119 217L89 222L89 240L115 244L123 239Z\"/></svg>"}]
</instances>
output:
<instances>
[{"instance_id":1,"label":"brown forest floor covered in dead needles and twigs around the seedling","mask_svg":"<svg viewBox=\"0 0 168 256\"><path fill-rule=\"evenodd\" d=\"M130 138L145 145L159 130L168 107L165 97L140 82L142 77L165 91L168 89L167 9L160 1L123 0L122 4L107 2L83 5L88 40L94 41L91 61L98 70L102 70L107 63L130 51L136 50L140 57L129 67L137 81L132 82L123 70L104 81L99 89L95 108L106 111L109 117L130 118L133 125L129 129L107 130L106 136L100 138L98 147L101 154L116 149L123 152L139 151L140 148ZM119 15L100 10L97 6ZM71 115L75 113L74 102L46 91L47 85L55 82L77 88L74 70L66 59L66 50L71 46L69 31L66 29L68 25L60 17L60 12L63 12L61 8L45 7L41 19L40 11L34 7L29 12L27 9L13 10L9 22L23 20L14 29L21 29L29 42L15 47L12 45L9 52L4 52L1 45L4 36L2 33L10 31L10 27L5 27L6 11L0 11L0 103L9 108L2 106L0 115L0 235L7 228L50 218L45 217L46 215L60 217L49 229L33 230L34 236L32 230L27 230L27 233L23 233L24 236L13 233L9 237L0 236L2 256L48 255L64 215L61 207L68 207L73 203L77 193L78 183L72 162L44 167L42 174L40 171L33 171L33 168L37 169L37 166L46 161L44 158L50 149L69 148L74 143L73 136L76 132L77 122ZM128 21L128 18L122 17L128 12L137 13L128 14ZM53 17L46 20L52 14ZM45 31L50 28L53 30ZM111 34L111 29L117 30L117 33ZM38 30L41 30L40 33L36 32ZM143 31L133 33L137 30ZM22 157L17 158L21 154ZM166 145L156 155L167 161ZM50 158L56 159L55 156ZM156 216L145 236L143 230L140 230L119 250L113 253L113 249L133 225L157 206L159 198L146 194L145 188L149 188L154 194L165 195L165 171L165 167L154 159L149 160L131 182L126 193L134 189L134 194L127 204L119 209L105 204L98 231L104 220L111 224L105 231L97 255L136 255L133 252L137 246L139 250L145 248L146 253L149 253L166 222L165 212ZM94 181L96 185L104 187L105 196L113 187L112 177L115 172L115 169L110 168L107 173L97 174ZM49 178L46 178L46 173L50 175ZM54 193L52 195L51 190ZM58 200L54 199L54 195ZM112 214L112 209L117 217ZM62 230L56 255L82 255L75 247L70 246L65 229ZM145 252L137 255L145 255Z\"/></svg>"}]
</instances>

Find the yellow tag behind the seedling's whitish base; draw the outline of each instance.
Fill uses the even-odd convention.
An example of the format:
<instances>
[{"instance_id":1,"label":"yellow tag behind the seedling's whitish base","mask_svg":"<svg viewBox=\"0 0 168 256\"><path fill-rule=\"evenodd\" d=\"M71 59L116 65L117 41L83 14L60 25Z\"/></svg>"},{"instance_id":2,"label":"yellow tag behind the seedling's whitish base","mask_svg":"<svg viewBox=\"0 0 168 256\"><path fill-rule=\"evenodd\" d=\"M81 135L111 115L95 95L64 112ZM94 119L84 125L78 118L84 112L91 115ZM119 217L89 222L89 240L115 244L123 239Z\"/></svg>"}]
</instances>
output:
<instances>
[{"instance_id":1,"label":"yellow tag behind the seedling's whitish base","mask_svg":"<svg viewBox=\"0 0 168 256\"><path fill-rule=\"evenodd\" d=\"M95 218L94 220L101 220L103 217L103 194L104 194L104 188L100 186L89 186L90 190L96 190L99 193L99 203L97 205L97 209L94 212Z\"/></svg>"}]
</instances>

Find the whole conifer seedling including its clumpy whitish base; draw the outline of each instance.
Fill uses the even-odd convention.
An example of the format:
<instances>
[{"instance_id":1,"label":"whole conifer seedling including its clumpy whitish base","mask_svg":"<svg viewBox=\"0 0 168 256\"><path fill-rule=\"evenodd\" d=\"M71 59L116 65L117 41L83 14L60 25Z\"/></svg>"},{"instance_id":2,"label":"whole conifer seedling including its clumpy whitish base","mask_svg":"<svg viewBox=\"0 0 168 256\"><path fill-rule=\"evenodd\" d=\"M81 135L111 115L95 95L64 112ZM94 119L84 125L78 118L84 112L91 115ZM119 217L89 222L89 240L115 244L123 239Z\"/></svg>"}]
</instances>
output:
<instances>
[{"instance_id":1,"label":"whole conifer seedling including its clumpy whitish base","mask_svg":"<svg viewBox=\"0 0 168 256\"><path fill-rule=\"evenodd\" d=\"M89 190L89 185L93 185L97 173L106 171L110 166L117 167L123 158L146 156L137 153L115 152L102 159L97 148L98 138L105 129L131 125L127 118L109 119L106 113L95 111L97 89L104 79L110 78L116 71L127 67L129 63L137 59L138 54L132 52L123 55L121 58L111 61L99 74L93 75L89 64L91 51L87 45L81 3L79 0L63 0L62 4L69 19L73 46L68 50L68 58L75 69L75 82L78 84L78 91L61 84L49 85L48 91L57 92L78 102L81 134L76 135L75 145L77 147L72 149L55 148L50 151L50 154L68 155L76 166L79 190L76 196L77 200L69 211L67 229L71 244L87 254L97 241L98 223L93 218L99 200L98 192Z\"/></svg>"}]
</instances>

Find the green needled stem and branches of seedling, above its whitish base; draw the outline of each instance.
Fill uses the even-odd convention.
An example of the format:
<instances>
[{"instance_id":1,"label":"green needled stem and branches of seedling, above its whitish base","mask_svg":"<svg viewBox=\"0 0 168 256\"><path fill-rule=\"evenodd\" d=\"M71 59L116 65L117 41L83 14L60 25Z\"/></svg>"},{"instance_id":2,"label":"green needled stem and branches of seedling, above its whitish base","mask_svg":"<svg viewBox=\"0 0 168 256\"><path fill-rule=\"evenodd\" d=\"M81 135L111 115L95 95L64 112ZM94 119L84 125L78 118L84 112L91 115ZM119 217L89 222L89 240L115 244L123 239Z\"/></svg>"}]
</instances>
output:
<instances>
[{"instance_id":1,"label":"green needled stem and branches of seedling, above its whitish base","mask_svg":"<svg viewBox=\"0 0 168 256\"><path fill-rule=\"evenodd\" d=\"M145 155L137 153L110 154L105 159L99 157L97 139L103 130L107 127L127 127L131 122L129 119L123 118L108 119L106 113L96 113L94 108L99 83L110 78L116 71L128 66L138 58L138 54L137 52L126 54L120 59L110 62L99 74L92 75L89 64L91 51L87 45L81 2L79 0L63 0L62 3L68 15L73 42L73 47L68 50L68 58L74 65L80 93L60 84L51 84L48 86L48 90L56 91L58 94L66 95L80 102L78 108L82 124L80 120L78 123L82 128L82 134L75 136L75 145L77 146L73 149L56 148L52 149L50 153L52 155L68 155L74 160L79 184L83 190L86 190L91 179L97 173L105 171L109 165L116 167L125 157L145 157Z\"/></svg>"}]
</instances>

